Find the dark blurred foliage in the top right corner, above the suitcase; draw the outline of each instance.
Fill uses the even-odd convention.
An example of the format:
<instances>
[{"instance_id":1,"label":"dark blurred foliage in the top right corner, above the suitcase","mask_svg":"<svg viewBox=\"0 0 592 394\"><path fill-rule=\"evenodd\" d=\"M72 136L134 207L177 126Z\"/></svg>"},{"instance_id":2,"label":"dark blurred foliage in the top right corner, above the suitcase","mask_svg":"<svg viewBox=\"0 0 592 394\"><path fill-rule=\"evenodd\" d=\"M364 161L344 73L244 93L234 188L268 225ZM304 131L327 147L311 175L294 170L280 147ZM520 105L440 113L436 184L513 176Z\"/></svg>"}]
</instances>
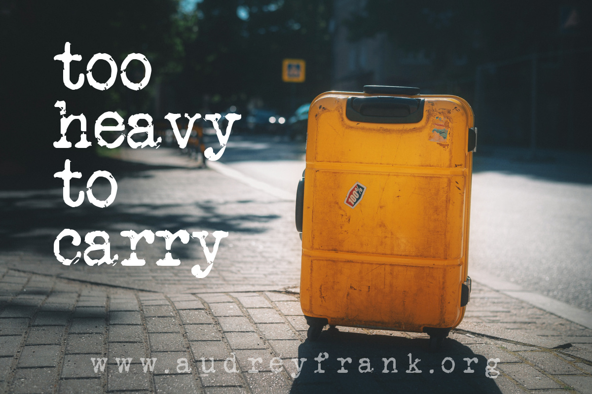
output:
<instances>
[{"instance_id":1,"label":"dark blurred foliage in the top right corner, above the suitcase","mask_svg":"<svg viewBox=\"0 0 592 394\"><path fill-rule=\"evenodd\" d=\"M564 3L368 0L364 12L352 15L348 28L353 41L384 32L399 49L424 50L439 64L441 75L435 77L451 78L474 70L477 64L562 49L565 39L559 16ZM572 29L577 34L571 40L589 46L591 4L572 3L583 20ZM455 62L459 57L466 57L464 66Z\"/></svg>"}]
</instances>

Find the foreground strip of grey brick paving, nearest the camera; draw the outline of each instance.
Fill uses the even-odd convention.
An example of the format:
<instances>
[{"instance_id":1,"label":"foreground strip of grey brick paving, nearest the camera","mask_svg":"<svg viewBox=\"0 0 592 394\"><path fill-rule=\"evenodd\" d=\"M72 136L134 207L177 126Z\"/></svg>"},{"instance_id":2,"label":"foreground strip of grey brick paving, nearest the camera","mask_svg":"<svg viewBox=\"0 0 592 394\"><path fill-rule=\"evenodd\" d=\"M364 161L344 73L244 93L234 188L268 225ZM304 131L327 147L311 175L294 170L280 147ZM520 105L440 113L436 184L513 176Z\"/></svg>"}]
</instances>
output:
<instances>
[{"instance_id":1,"label":"foreground strip of grey brick paving, nearest the camera","mask_svg":"<svg viewBox=\"0 0 592 394\"><path fill-rule=\"evenodd\" d=\"M320 342L310 343L296 294L141 292L8 269L2 270L0 288L5 392L392 392L401 387L404 392L587 393L592 387L590 330L479 285L465 322L497 321L514 330L542 326L540 334L567 334L580 343L553 349L463 329L454 330L439 353L427 353L425 334L345 327L323 332ZM492 303L496 311L488 308L484 316L480 310ZM321 366L326 372L315 373L314 358L325 352L329 358ZM417 367L422 373L406 373L409 353L421 360ZM95 373L91 358L102 357L107 366ZM117 358L128 357L129 370L122 366L119 372ZM203 372L202 357L205 370L214 360L215 372ZM234 357L238 372L227 373L224 360ZM284 370L272 371L274 357ZM345 365L348 374L337 373L339 357L352 359ZM383 357L394 357L397 373L382 372ZM442 367L445 357L455 362L452 373L443 372L452 366L448 360ZM474 374L462 372L465 357L477 357ZM157 359L153 372L143 372L141 358ZM250 358L261 361L253 368ZM307 360L294 378L296 358ZM372 373L359 372L364 358ZM497 379L485 377L485 364L492 358L500 359ZM186 359L191 371L178 370L178 359ZM232 366L229 361L229 370Z\"/></svg>"}]
</instances>

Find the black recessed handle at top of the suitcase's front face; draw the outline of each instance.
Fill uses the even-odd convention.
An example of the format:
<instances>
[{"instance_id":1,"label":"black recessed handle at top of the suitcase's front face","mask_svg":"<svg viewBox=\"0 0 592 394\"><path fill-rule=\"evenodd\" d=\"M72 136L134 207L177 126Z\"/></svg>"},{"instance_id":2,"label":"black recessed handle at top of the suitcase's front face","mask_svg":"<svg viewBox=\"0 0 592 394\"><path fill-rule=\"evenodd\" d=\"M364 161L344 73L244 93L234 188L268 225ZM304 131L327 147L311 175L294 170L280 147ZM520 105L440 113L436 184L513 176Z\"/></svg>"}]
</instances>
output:
<instances>
[{"instance_id":1,"label":"black recessed handle at top of the suitcase's front face","mask_svg":"<svg viewBox=\"0 0 592 394\"><path fill-rule=\"evenodd\" d=\"M371 96L350 97L345 115L350 121L368 123L417 123L423 119L424 99Z\"/></svg>"}]
</instances>

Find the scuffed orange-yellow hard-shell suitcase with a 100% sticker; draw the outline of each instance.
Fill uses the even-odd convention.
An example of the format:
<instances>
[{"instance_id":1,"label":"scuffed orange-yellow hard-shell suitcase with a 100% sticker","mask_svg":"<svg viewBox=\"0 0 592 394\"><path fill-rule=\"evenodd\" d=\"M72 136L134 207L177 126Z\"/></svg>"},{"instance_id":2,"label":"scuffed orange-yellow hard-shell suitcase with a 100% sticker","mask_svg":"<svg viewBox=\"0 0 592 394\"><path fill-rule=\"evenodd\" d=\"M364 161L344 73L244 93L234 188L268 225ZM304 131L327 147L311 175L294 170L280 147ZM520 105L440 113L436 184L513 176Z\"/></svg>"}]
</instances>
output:
<instances>
[{"instance_id":1,"label":"scuffed orange-yellow hard-shell suitcase with a 100% sticker","mask_svg":"<svg viewBox=\"0 0 592 394\"><path fill-rule=\"evenodd\" d=\"M314 99L296 203L308 338L330 324L427 332L438 346L461 322L473 122L464 99L417 88Z\"/></svg>"}]
</instances>

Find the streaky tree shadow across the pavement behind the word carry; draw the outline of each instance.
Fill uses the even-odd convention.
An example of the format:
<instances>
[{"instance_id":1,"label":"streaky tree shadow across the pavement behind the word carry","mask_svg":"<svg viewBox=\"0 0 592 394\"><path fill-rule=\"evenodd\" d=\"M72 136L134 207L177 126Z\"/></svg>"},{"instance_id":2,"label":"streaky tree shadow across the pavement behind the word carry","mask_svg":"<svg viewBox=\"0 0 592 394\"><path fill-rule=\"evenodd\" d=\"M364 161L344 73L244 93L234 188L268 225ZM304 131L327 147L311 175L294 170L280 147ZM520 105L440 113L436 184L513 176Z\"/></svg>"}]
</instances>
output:
<instances>
[{"instance_id":1,"label":"streaky tree shadow across the pavement behind the word carry","mask_svg":"<svg viewBox=\"0 0 592 394\"><path fill-rule=\"evenodd\" d=\"M64 228L73 228L79 232L84 240L86 231L106 231L111 238L113 247L123 244L120 237L122 230L140 232L144 229L191 231L213 231L224 229L230 232L247 234L261 234L268 231L263 225L278 219L278 215L222 214L217 205L199 202L192 205L182 204L114 204L109 209L97 208L85 201L84 204L72 209L63 202L61 193L46 195L34 193L0 200L0 250L2 251L30 251L47 254L53 250L56 235ZM191 208L192 212L188 212ZM179 211L171 213L170 210ZM119 242L118 238L121 238ZM125 238L127 245L129 240ZM98 243L101 241L98 240ZM63 250L69 249L69 241L62 243ZM164 253L164 239L156 237L155 244ZM143 244L140 244L143 245ZM112 249L118 253L117 249ZM129 246L124 248L125 254L130 252ZM175 258L186 259L195 247L177 241L173 244Z\"/></svg>"}]
</instances>

